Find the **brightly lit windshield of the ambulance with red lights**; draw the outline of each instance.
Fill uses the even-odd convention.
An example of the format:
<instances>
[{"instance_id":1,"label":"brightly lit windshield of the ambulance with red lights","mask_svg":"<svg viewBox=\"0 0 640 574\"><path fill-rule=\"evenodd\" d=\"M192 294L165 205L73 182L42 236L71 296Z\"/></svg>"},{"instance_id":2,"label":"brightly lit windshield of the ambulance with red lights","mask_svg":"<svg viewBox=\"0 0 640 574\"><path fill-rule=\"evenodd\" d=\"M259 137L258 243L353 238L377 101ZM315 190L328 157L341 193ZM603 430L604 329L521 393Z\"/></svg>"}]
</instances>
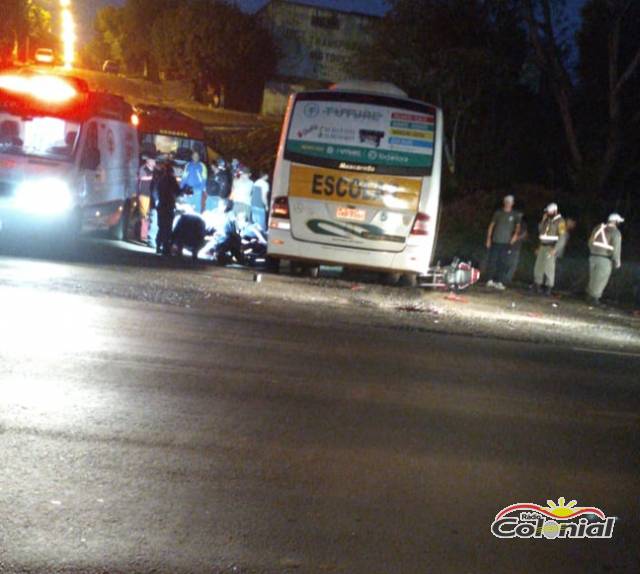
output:
<instances>
[{"instance_id":1,"label":"brightly lit windshield of the ambulance with red lights","mask_svg":"<svg viewBox=\"0 0 640 574\"><path fill-rule=\"evenodd\" d=\"M21 118L0 113L1 154L69 160L79 133L80 124L62 118Z\"/></svg>"}]
</instances>

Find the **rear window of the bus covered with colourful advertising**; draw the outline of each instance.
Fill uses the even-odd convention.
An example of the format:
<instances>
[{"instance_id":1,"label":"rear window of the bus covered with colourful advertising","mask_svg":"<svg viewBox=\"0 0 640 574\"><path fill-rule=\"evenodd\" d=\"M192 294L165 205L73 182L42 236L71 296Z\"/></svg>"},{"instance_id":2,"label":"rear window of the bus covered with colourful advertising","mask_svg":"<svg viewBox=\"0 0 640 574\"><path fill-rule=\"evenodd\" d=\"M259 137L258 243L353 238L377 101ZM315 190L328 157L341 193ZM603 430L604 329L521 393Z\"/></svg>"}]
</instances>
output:
<instances>
[{"instance_id":1,"label":"rear window of the bus covered with colourful advertising","mask_svg":"<svg viewBox=\"0 0 640 574\"><path fill-rule=\"evenodd\" d=\"M395 98L327 93L297 99L285 159L338 169L427 176L435 108Z\"/></svg>"}]
</instances>

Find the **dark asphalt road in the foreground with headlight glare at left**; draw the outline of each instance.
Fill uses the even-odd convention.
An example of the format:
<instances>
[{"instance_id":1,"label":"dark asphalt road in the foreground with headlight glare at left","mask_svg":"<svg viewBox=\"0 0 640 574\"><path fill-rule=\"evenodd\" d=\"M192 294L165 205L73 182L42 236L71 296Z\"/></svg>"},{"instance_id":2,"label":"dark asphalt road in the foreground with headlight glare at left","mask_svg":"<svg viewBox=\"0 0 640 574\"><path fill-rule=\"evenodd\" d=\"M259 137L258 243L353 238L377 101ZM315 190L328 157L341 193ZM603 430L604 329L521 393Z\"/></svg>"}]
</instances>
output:
<instances>
[{"instance_id":1,"label":"dark asphalt road in the foreground with headlight glare at left","mask_svg":"<svg viewBox=\"0 0 640 574\"><path fill-rule=\"evenodd\" d=\"M0 572L640 571L640 359L42 269L0 257ZM613 539L491 535L560 496Z\"/></svg>"}]
</instances>

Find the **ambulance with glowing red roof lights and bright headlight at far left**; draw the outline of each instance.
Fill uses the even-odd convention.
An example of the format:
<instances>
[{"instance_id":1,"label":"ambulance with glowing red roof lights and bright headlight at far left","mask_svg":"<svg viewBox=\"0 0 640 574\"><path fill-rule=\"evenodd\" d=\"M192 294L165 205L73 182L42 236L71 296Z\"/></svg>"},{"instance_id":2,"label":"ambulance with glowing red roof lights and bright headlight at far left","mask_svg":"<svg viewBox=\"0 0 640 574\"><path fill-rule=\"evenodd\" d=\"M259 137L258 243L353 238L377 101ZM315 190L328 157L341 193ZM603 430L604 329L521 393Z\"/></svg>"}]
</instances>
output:
<instances>
[{"instance_id":1,"label":"ambulance with glowing red roof lights and bright headlight at far left","mask_svg":"<svg viewBox=\"0 0 640 574\"><path fill-rule=\"evenodd\" d=\"M0 237L53 229L122 239L137 190L135 115L80 79L0 74Z\"/></svg>"}]
</instances>

